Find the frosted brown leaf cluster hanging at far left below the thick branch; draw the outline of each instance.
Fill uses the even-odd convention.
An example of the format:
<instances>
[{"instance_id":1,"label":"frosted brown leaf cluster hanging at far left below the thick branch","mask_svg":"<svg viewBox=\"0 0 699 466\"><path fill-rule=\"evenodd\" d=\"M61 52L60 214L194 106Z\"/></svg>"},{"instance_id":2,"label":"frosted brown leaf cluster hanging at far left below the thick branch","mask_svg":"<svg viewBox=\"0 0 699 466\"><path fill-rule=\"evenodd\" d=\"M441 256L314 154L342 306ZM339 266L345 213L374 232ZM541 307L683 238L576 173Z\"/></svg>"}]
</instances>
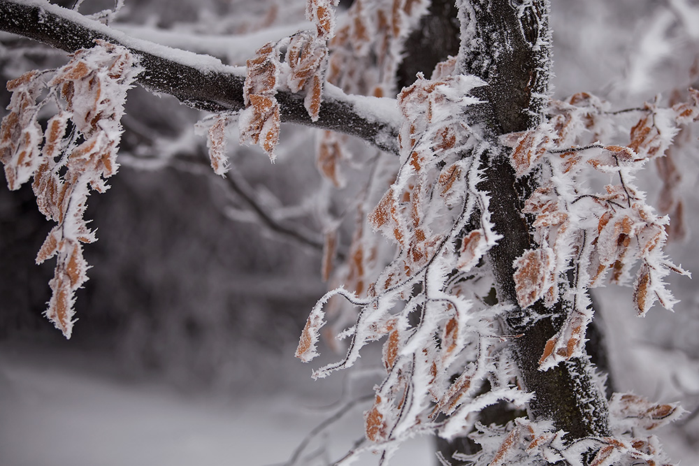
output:
<instances>
[{"instance_id":1,"label":"frosted brown leaf cluster hanging at far left below the thick branch","mask_svg":"<svg viewBox=\"0 0 699 466\"><path fill-rule=\"evenodd\" d=\"M118 168L119 122L136 73L134 58L125 48L99 41L93 49L72 54L48 82L48 73L37 71L8 82L13 97L0 130L0 159L10 189L34 177L38 208L57 224L36 262L57 256L45 314L66 337L73 326L75 291L87 280L80 243L96 240L83 219L87 196L90 188L105 191L104 180ZM45 89L47 96L37 103ZM38 111L47 103L55 103L58 112L42 131Z\"/></svg>"}]
</instances>

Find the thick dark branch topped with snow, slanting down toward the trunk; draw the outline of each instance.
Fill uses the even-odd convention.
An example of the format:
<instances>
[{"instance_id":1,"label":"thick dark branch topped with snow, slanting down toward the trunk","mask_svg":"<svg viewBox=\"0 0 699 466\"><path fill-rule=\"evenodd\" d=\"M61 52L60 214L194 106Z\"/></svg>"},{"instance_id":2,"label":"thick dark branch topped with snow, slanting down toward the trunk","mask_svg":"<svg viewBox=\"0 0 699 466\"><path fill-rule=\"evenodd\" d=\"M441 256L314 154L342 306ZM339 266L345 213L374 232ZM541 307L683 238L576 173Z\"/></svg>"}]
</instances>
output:
<instances>
[{"instance_id":1,"label":"thick dark branch topped with snow, slanting down toward the trunk","mask_svg":"<svg viewBox=\"0 0 699 466\"><path fill-rule=\"evenodd\" d=\"M45 0L0 0L0 30L75 52L96 39L123 45L140 59L138 82L151 92L174 96L199 110L241 110L245 68L226 66L213 57L131 38L73 10ZM319 119L312 122L304 95L278 92L283 122L356 136L398 154L398 119L391 99L349 96L326 83Z\"/></svg>"}]
</instances>

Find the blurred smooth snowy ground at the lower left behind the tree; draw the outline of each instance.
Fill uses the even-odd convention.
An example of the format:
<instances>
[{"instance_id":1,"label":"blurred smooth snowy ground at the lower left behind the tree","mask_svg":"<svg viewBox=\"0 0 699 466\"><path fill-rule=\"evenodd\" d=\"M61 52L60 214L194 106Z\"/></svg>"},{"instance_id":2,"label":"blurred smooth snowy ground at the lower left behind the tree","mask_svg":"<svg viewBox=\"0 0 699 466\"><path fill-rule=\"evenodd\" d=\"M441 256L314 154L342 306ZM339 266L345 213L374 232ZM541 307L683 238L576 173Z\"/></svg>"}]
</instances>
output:
<instances>
[{"instance_id":1,"label":"blurred smooth snowy ground at the lower left behind the tree","mask_svg":"<svg viewBox=\"0 0 699 466\"><path fill-rule=\"evenodd\" d=\"M164 384L124 381L94 358L57 363L56 354L0 354L2 466L283 464L329 415L310 409L308 391L227 400L184 395ZM326 438L330 458L354 442L361 409ZM433 465L429 446L429 439L416 439L391 463ZM355 464L376 459L367 455Z\"/></svg>"}]
</instances>

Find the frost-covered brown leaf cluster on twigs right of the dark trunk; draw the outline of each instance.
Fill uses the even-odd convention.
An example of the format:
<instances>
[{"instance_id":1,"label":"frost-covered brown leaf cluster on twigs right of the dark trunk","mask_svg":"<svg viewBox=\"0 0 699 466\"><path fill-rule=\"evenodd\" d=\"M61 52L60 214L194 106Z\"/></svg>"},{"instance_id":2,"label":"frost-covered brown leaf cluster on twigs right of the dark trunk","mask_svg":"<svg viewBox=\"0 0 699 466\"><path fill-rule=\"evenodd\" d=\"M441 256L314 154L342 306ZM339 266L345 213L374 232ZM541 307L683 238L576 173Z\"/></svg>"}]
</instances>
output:
<instances>
[{"instance_id":1,"label":"frost-covered brown leaf cluster on twigs right of the dark trunk","mask_svg":"<svg viewBox=\"0 0 699 466\"><path fill-rule=\"evenodd\" d=\"M597 142L613 137L609 129L617 126L616 114L586 93L554 101L547 122L515 135L516 140L509 136L517 175L531 173L535 166L545 175L524 207L533 216L540 248L526 252L515 263L519 303L526 307L543 298L551 305L561 286L570 288L574 303L561 332L547 343L542 367L582 351L584 330L592 317L584 290L603 284L607 277L612 283L628 284L636 270L633 302L640 315L656 301L668 309L675 303L663 277L671 270L686 272L665 258L668 218L647 205L633 183L633 173L654 159L667 168L661 172L663 180L672 181L672 162L664 161L663 155L677 126L699 115L699 94L691 89L690 96L689 102L670 108L647 103L635 109L641 116L630 127L626 145ZM576 182L594 173L612 175L617 182L607 184L601 193L586 191ZM563 272L571 267L572 286L563 279Z\"/></svg>"}]
</instances>

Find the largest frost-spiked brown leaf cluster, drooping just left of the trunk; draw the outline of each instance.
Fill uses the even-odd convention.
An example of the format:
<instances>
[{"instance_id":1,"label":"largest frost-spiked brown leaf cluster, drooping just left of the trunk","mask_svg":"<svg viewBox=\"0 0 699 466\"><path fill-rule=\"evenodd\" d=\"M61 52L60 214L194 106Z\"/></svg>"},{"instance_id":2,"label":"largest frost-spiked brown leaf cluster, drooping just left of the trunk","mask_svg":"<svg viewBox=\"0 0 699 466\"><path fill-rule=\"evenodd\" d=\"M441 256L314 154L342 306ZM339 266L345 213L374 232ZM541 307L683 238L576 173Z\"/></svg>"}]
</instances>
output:
<instances>
[{"instance_id":1,"label":"largest frost-spiked brown leaf cluster, drooping just left of the trunk","mask_svg":"<svg viewBox=\"0 0 699 466\"><path fill-rule=\"evenodd\" d=\"M463 233L476 202L477 196L468 196L468 192L475 191L479 158L464 158L462 151L477 152L482 142L471 137L461 115L464 106L476 101L468 97L468 91L481 84L463 76L420 77L398 96L405 117L401 166L366 217L375 230L394 242L398 252L367 286L370 270L366 264L376 258L366 247L360 226L345 275L349 278L345 284L352 284L354 293L345 289L329 292L311 312L301 335L297 356L309 361L317 355L315 345L325 323L326 300L340 295L361 307L356 323L341 333L351 339L347 356L317 370L315 377L348 367L366 342L385 338L382 363L387 376L364 415L366 437L373 444L392 442L428 423L438 426L435 421L440 414L454 414L466 405L454 419L473 423L470 412L476 406L497 402L500 395L510 393L511 374L503 371L498 374L503 377L498 382L501 391L473 403L488 370L486 358L493 357L479 332L493 333L492 321L470 314L473 302L458 296L459 292L449 294L452 291L444 283L445 271L453 270L454 263L460 264L456 272L466 277L496 239L485 227ZM414 286L424 291L415 293ZM399 301L405 305L396 305ZM410 314L419 309L419 323L410 323ZM464 358L472 361L467 370L460 365ZM452 379L456 373L459 377Z\"/></svg>"}]
</instances>

